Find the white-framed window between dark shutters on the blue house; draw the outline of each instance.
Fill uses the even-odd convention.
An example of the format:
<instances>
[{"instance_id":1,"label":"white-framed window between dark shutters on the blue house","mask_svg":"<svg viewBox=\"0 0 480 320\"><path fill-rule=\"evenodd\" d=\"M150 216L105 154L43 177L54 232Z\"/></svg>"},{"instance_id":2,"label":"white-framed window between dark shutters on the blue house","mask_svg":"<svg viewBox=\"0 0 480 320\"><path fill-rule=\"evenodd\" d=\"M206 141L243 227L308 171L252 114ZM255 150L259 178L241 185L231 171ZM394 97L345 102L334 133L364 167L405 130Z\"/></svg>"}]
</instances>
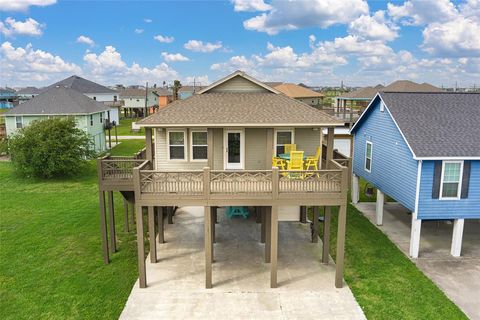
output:
<instances>
[{"instance_id":1,"label":"white-framed window between dark shutters on the blue house","mask_svg":"<svg viewBox=\"0 0 480 320\"><path fill-rule=\"evenodd\" d=\"M444 161L442 165L440 199L460 199L463 161Z\"/></svg>"}]
</instances>

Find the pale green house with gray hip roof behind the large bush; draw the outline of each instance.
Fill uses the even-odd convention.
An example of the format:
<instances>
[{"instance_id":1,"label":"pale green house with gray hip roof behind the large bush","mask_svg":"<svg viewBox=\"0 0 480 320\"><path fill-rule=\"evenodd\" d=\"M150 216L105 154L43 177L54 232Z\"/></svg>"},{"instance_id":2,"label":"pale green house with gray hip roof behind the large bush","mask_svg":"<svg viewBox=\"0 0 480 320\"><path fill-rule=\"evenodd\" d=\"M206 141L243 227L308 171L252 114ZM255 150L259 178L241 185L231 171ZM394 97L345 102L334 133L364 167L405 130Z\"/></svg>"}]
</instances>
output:
<instances>
[{"instance_id":1,"label":"pale green house with gray hip roof behind the large bush","mask_svg":"<svg viewBox=\"0 0 480 320\"><path fill-rule=\"evenodd\" d=\"M78 128L92 137L96 151L105 151L105 111L110 108L65 87L50 87L35 98L5 113L7 136L34 120L74 117Z\"/></svg>"}]
</instances>

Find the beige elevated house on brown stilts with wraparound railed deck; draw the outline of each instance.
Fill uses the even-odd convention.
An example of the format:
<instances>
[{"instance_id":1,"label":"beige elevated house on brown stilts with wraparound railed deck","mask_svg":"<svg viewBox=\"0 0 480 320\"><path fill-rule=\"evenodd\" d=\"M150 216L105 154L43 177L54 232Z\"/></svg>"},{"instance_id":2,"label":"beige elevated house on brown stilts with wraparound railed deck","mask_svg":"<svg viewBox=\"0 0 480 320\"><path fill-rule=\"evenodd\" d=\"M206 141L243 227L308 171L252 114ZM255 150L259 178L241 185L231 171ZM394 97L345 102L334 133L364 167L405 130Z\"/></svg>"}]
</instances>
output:
<instances>
[{"instance_id":1,"label":"beige elevated house on brown stilts with wraparound railed deck","mask_svg":"<svg viewBox=\"0 0 480 320\"><path fill-rule=\"evenodd\" d=\"M108 246L112 252L116 247L114 224L107 241L105 192L110 217L113 191L135 202L141 287L147 285L142 208L148 208L150 258L155 263L156 229L163 239L160 209L204 207L205 237L199 241L205 241L205 279L210 288L216 208L255 208L262 221L270 285L276 287L277 250L282 250L278 222L305 222L305 207L313 207L312 241L318 241L319 207L325 206L323 261L328 262L330 215L335 206L339 207L335 284L342 286L350 159L336 158L333 129L343 123L237 71L138 124L145 128L144 159L106 156L98 160L105 262ZM288 148L298 153L288 153ZM302 151L307 160L302 156L295 160ZM290 156L284 167L281 157Z\"/></svg>"}]
</instances>

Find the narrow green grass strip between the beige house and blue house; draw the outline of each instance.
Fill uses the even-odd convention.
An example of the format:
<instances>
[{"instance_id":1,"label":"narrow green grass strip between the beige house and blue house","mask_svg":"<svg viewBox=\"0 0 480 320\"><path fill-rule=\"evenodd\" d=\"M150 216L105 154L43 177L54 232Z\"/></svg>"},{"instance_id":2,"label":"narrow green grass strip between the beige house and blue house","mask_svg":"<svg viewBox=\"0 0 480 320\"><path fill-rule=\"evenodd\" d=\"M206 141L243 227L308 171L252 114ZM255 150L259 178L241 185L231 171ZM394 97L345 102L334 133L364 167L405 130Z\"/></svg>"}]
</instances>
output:
<instances>
[{"instance_id":1,"label":"narrow green grass strip between the beige house and blue house","mask_svg":"<svg viewBox=\"0 0 480 320\"><path fill-rule=\"evenodd\" d=\"M332 214L330 242L334 259L336 213L334 210ZM345 280L368 319L468 319L383 232L350 204Z\"/></svg>"}]
</instances>

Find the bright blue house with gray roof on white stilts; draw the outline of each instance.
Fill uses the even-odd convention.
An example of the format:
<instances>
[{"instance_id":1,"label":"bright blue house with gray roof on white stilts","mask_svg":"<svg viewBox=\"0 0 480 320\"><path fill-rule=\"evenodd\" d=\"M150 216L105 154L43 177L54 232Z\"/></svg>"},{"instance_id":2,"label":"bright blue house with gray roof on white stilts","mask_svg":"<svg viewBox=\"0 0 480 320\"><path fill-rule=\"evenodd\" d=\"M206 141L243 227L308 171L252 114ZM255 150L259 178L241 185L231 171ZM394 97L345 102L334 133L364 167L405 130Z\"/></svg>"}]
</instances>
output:
<instances>
[{"instance_id":1,"label":"bright blue house with gray roof on white stilts","mask_svg":"<svg viewBox=\"0 0 480 320\"><path fill-rule=\"evenodd\" d=\"M413 258L422 220L453 220L460 256L465 219L480 219L480 94L381 92L351 133L353 202L361 177L378 190L377 224L385 195L409 209Z\"/></svg>"}]
</instances>

